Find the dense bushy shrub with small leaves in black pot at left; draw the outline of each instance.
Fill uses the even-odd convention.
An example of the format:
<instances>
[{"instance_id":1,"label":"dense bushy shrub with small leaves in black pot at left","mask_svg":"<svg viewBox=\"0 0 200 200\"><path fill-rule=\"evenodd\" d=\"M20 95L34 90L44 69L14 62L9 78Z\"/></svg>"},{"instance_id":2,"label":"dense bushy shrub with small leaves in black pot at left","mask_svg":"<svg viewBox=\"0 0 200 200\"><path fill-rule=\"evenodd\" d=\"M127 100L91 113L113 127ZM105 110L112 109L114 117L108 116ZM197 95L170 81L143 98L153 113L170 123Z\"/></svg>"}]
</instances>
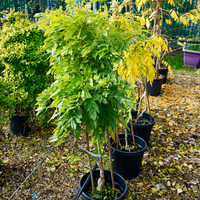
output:
<instances>
[{"instance_id":1,"label":"dense bushy shrub with small leaves in black pot at left","mask_svg":"<svg viewBox=\"0 0 200 200\"><path fill-rule=\"evenodd\" d=\"M28 118L34 119L37 94L50 84L51 77L46 75L50 68L48 54L42 48L44 39L23 13L7 14L0 35L0 65L2 81L10 85L12 105L6 107L11 132L16 135L30 133Z\"/></svg>"}]
</instances>

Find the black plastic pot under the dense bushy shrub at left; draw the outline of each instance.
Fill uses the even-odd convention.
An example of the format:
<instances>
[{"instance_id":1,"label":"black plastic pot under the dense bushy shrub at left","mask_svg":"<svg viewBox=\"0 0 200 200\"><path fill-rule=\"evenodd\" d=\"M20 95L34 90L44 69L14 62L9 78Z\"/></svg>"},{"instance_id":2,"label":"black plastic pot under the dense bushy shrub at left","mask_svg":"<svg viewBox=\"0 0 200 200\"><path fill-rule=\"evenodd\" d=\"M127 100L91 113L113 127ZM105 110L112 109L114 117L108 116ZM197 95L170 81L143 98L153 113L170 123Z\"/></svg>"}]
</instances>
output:
<instances>
[{"instance_id":1,"label":"black plastic pot under the dense bushy shrub at left","mask_svg":"<svg viewBox=\"0 0 200 200\"><path fill-rule=\"evenodd\" d=\"M31 132L31 128L28 126L28 116L15 115L10 117L10 131L17 136L28 136Z\"/></svg>"}]
</instances>

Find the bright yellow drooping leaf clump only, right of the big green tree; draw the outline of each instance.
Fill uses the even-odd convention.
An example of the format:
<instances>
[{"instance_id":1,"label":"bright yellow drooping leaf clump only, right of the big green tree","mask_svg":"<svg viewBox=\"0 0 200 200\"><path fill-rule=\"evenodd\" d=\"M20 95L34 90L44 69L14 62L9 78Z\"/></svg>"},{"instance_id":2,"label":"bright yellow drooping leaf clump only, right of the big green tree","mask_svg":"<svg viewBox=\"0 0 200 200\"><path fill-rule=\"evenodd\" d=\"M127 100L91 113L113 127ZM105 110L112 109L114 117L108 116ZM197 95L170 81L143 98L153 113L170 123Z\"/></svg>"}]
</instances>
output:
<instances>
[{"instance_id":1,"label":"bright yellow drooping leaf clump only, right of the big green tree","mask_svg":"<svg viewBox=\"0 0 200 200\"><path fill-rule=\"evenodd\" d=\"M117 66L118 73L122 78L132 79L132 83L137 79L141 80L142 75L152 82L155 77L155 62L152 56L160 57L161 49L168 51L165 41L156 35L145 41L135 41L124 53L124 61Z\"/></svg>"}]
</instances>

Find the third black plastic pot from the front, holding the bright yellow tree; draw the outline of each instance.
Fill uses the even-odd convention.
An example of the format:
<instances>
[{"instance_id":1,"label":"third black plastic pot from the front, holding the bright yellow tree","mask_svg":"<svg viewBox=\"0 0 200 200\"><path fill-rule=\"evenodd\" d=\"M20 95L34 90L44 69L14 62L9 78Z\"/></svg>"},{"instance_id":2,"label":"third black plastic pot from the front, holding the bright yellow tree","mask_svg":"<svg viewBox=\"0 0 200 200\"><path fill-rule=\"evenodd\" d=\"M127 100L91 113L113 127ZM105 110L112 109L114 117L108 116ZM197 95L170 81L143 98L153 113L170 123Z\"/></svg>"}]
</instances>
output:
<instances>
[{"instance_id":1,"label":"third black plastic pot from the front, holding the bright yellow tree","mask_svg":"<svg viewBox=\"0 0 200 200\"><path fill-rule=\"evenodd\" d=\"M137 111L131 111L132 114L132 119L136 119L137 117ZM145 140L145 142L147 143L147 145L149 144L149 139L151 136L151 129L153 127L153 125L155 124L155 118L153 116L152 117L152 122L149 124L133 124L133 130L134 130L134 134L141 137L142 139ZM148 113L144 113L141 117L141 119L145 119L146 121L150 122L150 115ZM128 127L130 130L127 129L127 132L129 134L131 134L131 124L130 122L128 122Z\"/></svg>"}]
</instances>

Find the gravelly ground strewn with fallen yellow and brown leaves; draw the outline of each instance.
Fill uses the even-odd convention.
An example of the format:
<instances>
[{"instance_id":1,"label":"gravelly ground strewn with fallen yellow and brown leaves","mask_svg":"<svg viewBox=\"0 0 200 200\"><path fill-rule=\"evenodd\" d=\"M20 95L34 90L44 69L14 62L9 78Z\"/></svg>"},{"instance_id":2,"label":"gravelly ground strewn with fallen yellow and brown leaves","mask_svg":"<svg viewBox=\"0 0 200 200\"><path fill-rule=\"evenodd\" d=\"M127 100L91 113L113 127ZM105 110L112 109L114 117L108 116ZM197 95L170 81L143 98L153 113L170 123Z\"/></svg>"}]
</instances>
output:
<instances>
[{"instance_id":1,"label":"gravelly ground strewn with fallen yellow and brown leaves","mask_svg":"<svg viewBox=\"0 0 200 200\"><path fill-rule=\"evenodd\" d=\"M170 75L162 94L150 96L150 103L156 124L141 173L127 180L127 199L200 199L200 76ZM49 128L17 137L3 129L0 199L9 199L51 149L51 134ZM73 199L88 164L87 156L71 143L56 147L12 199L34 199L32 194L38 199Z\"/></svg>"}]
</instances>

